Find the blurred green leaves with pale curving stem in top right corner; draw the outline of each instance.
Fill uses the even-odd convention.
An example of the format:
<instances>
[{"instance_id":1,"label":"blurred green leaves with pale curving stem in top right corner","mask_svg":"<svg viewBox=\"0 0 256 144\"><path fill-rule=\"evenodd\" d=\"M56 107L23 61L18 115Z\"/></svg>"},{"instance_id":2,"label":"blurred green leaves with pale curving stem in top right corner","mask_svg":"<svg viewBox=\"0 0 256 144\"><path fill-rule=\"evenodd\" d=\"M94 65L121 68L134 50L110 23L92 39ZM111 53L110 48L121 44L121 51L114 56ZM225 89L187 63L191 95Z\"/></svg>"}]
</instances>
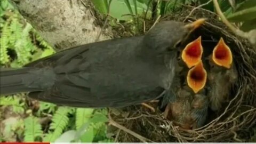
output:
<instances>
[{"instance_id":1,"label":"blurred green leaves with pale curving stem in top right corner","mask_svg":"<svg viewBox=\"0 0 256 144\"><path fill-rule=\"evenodd\" d=\"M229 0L229 2L234 11L226 16L223 14L218 1L213 0L216 13L234 34L248 39L252 45L256 46L256 1L247 0L239 4L235 0Z\"/></svg>"}]
</instances>

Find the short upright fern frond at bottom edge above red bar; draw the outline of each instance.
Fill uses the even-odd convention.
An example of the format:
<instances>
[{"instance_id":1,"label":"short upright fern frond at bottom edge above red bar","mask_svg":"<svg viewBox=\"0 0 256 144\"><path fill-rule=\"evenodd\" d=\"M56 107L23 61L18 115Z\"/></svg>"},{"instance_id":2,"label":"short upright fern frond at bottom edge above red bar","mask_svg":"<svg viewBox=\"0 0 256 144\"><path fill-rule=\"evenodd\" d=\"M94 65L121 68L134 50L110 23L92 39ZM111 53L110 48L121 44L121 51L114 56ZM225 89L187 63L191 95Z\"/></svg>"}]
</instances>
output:
<instances>
[{"instance_id":1,"label":"short upright fern frond at bottom edge above red bar","mask_svg":"<svg viewBox=\"0 0 256 144\"><path fill-rule=\"evenodd\" d=\"M29 116L25 119L24 135L25 142L34 142L37 137L42 137L43 131L37 117Z\"/></svg>"}]
</instances>

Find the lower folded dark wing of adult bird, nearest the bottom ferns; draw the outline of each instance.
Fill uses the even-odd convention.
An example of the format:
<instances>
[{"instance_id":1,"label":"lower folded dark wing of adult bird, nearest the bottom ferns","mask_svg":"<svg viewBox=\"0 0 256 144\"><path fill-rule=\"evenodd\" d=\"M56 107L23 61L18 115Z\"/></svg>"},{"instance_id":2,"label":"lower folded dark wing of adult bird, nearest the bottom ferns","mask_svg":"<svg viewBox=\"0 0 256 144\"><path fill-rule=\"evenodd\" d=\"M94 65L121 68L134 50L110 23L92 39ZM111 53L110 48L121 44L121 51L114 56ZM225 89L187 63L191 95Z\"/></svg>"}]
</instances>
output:
<instances>
[{"instance_id":1,"label":"lower folded dark wing of adult bird, nearest the bottom ferns","mask_svg":"<svg viewBox=\"0 0 256 144\"><path fill-rule=\"evenodd\" d=\"M76 93L71 93L74 91L76 91ZM50 91L31 92L29 93L29 97L45 102L55 103L57 105L65 105L71 107L125 107L153 100L154 98L157 98L157 96L160 95L163 91L164 89L162 87L156 87L153 90L147 90L145 92L134 92L133 94L125 93L116 95L117 97L98 98L95 97L95 95L92 95L90 91L84 90L83 87L61 84L58 85L58 87L54 86ZM70 93L62 94L63 92ZM74 97L70 97L70 95L74 95Z\"/></svg>"}]
</instances>

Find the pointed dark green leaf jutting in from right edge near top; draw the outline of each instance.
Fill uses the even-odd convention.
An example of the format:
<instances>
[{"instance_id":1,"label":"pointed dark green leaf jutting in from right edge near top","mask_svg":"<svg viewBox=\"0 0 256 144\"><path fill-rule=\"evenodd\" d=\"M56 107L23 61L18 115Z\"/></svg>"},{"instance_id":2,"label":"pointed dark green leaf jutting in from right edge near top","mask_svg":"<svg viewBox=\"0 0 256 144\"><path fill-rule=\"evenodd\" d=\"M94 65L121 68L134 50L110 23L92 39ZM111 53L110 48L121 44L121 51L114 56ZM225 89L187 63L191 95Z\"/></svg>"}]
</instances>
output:
<instances>
[{"instance_id":1,"label":"pointed dark green leaf jutting in from right edge near top","mask_svg":"<svg viewBox=\"0 0 256 144\"><path fill-rule=\"evenodd\" d=\"M256 18L256 6L233 13L228 17L228 20L231 22L243 22L243 21L252 20L255 18Z\"/></svg>"}]
</instances>

